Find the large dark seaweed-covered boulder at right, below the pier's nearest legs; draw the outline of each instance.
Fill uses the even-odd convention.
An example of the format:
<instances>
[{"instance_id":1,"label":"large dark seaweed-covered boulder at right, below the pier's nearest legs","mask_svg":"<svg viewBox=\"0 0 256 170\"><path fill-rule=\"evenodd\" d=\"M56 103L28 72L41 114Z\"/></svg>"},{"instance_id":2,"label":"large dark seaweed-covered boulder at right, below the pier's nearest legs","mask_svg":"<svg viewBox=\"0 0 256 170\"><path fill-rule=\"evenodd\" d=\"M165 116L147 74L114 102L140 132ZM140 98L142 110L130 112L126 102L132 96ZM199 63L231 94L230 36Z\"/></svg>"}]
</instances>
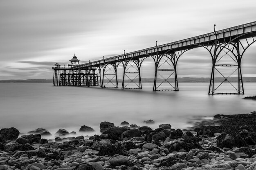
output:
<instances>
[{"instance_id":1,"label":"large dark seaweed-covered boulder at right, below the pier's nearest legs","mask_svg":"<svg viewBox=\"0 0 256 170\"><path fill-rule=\"evenodd\" d=\"M232 148L234 146L236 147L246 147L247 144L243 137L238 135L237 133L222 133L217 139L217 146L220 148L226 147L226 148Z\"/></svg>"}]
</instances>

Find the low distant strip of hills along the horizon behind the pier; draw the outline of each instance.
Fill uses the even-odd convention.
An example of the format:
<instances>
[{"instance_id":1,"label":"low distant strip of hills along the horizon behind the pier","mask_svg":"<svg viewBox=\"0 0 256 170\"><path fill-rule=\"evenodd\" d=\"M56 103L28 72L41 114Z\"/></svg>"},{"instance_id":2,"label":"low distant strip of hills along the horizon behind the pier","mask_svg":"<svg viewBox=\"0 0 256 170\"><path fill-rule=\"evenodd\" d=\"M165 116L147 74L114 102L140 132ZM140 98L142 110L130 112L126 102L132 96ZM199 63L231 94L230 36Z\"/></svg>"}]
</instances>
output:
<instances>
[{"instance_id":1,"label":"low distant strip of hills along the horizon behind the pier","mask_svg":"<svg viewBox=\"0 0 256 170\"><path fill-rule=\"evenodd\" d=\"M237 77L228 78L229 82L237 82ZM105 79L104 79L105 81ZM157 78L157 82L163 82L161 78ZM174 82L174 78L168 78L167 81ZM224 81L223 77L216 77L215 82ZM115 82L113 80L113 82ZM122 82L121 79L118 79L118 82ZM125 82L130 82L126 80ZM139 82L138 78L135 78L134 82ZM153 83L154 78L141 78L142 83ZM205 77L178 77L179 83L209 83L210 78ZM243 82L256 82L256 77L243 77ZM52 79L27 79L27 80L0 80L0 83L52 83Z\"/></svg>"}]
</instances>

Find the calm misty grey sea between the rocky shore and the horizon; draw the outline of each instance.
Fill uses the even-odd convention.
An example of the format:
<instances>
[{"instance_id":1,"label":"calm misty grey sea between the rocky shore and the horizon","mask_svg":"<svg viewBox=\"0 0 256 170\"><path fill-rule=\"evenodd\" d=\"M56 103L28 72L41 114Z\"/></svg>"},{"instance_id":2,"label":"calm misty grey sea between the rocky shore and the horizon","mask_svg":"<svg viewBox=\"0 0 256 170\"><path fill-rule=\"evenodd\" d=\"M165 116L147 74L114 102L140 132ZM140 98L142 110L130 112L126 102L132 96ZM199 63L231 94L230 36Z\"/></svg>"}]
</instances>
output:
<instances>
[{"instance_id":1,"label":"calm misty grey sea between the rocky shore and the horizon","mask_svg":"<svg viewBox=\"0 0 256 170\"><path fill-rule=\"evenodd\" d=\"M79 131L87 125L99 133L99 124L122 121L139 126L169 123L187 128L198 118L215 114L256 111L256 101L242 100L256 95L256 83L244 83L245 95L208 95L208 83L179 83L179 92L152 92L152 83L142 90L99 87L53 87L52 83L0 83L0 129L16 127L20 132L45 128ZM78 135L81 135L78 133ZM91 134L83 134L91 135Z\"/></svg>"}]
</instances>

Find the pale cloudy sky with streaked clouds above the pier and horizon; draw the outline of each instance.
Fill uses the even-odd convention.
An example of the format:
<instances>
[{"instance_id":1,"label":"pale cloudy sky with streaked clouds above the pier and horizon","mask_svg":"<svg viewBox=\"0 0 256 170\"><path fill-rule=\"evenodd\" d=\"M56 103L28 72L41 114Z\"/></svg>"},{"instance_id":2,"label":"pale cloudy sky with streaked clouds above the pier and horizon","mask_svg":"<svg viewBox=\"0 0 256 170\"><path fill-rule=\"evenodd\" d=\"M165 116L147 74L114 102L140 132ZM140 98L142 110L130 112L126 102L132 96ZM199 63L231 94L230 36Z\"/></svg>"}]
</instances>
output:
<instances>
[{"instance_id":1,"label":"pale cloudy sky with streaked clouds above the pier and horizon","mask_svg":"<svg viewBox=\"0 0 256 170\"><path fill-rule=\"evenodd\" d=\"M255 0L1 0L0 80L51 79L52 66L132 52L255 21ZM245 52L243 76L256 76L256 44ZM147 58L141 77L154 77ZM203 48L185 52L178 77L210 77ZM120 71L117 71L121 75ZM227 72L228 74L228 72ZM121 78L121 77L119 77Z\"/></svg>"}]
</instances>

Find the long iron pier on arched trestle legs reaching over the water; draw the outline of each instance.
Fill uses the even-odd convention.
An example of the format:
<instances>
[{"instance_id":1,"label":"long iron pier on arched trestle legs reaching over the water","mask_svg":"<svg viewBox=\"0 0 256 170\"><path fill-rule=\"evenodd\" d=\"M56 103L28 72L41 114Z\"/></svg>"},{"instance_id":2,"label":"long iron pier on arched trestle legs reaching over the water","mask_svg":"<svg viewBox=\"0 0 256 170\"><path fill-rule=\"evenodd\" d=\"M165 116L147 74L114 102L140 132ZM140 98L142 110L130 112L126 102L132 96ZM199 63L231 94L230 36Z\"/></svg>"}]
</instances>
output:
<instances>
[{"instance_id":1,"label":"long iron pier on arched trestle legs reaching over the water","mask_svg":"<svg viewBox=\"0 0 256 170\"><path fill-rule=\"evenodd\" d=\"M152 57L155 63L153 91L178 91L177 61L179 61L184 52L193 48L203 47L209 51L212 59L208 94L244 94L241 60L244 52L255 41L256 22L219 31L215 31L214 25L212 33L168 44L156 44L154 47L143 50L72 66L68 74L63 72L61 75L58 70L53 68L53 85L89 84L90 86L93 83L88 82L86 79L88 72L85 71L81 74L81 68L93 67L99 71L101 87L118 88L117 68L122 63L124 66L122 89L141 89L141 64L147 57ZM229 71L229 74L224 74L227 71ZM85 78L81 77L81 75L85 75ZM98 78L98 76L96 77ZM217 77L221 77L221 79L218 78L217 80ZM231 77L233 79L235 77L237 81L235 83L231 82ZM85 83L82 80L85 80ZM229 85L228 89L222 88L224 83ZM94 83L94 85L96 84ZM166 84L168 87L166 87Z\"/></svg>"}]
</instances>

